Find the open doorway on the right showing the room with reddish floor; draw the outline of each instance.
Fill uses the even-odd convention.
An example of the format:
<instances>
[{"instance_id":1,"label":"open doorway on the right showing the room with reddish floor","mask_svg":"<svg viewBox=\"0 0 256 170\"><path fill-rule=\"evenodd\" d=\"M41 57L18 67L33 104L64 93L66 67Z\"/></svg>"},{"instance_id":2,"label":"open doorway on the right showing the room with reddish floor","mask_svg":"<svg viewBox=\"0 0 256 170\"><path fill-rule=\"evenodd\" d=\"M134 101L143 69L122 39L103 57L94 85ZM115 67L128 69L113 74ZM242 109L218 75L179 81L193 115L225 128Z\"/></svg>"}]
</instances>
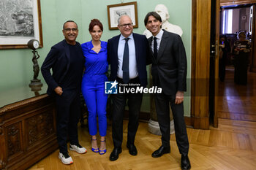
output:
<instances>
[{"instance_id":1,"label":"open doorway on the right showing the room with reddish floor","mask_svg":"<svg viewBox=\"0 0 256 170\"><path fill-rule=\"evenodd\" d=\"M220 12L220 35L225 36L226 50L225 56L225 72L221 72L222 81L219 81L219 102L218 102L218 118L230 119L230 120L246 120L256 121L255 107L253 101L255 101L254 91L255 85L255 72L252 71L252 61L254 55L251 52L246 54L248 56L247 80L244 85L235 82L234 79L239 76L236 70L239 70L242 63L238 62L236 55L235 42L238 40L238 34L244 32L246 40L252 44L252 35L255 34L253 29L254 16L254 4L241 4L236 6L222 6ZM253 45L252 45L253 46ZM244 60L246 60L244 58ZM242 62L244 62L244 60ZM219 58L221 61L221 58ZM241 62L241 61L240 61ZM219 71L221 71L221 65L219 64ZM238 67L238 68L237 68ZM236 74L236 75L235 75ZM244 75L243 78L246 78Z\"/></svg>"}]
</instances>

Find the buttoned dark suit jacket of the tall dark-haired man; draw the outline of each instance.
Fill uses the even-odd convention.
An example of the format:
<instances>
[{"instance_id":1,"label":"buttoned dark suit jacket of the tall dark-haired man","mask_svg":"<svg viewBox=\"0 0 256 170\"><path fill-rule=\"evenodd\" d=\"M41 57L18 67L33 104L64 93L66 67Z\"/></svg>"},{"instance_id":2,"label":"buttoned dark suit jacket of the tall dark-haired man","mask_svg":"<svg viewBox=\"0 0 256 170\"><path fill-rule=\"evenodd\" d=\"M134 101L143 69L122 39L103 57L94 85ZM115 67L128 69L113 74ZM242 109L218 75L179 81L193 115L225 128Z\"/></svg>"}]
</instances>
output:
<instances>
[{"instance_id":1,"label":"buttoned dark suit jacket of the tall dark-haired man","mask_svg":"<svg viewBox=\"0 0 256 170\"><path fill-rule=\"evenodd\" d=\"M151 46L153 37L148 39ZM187 90L187 57L181 36L164 30L157 58L150 48L153 85L161 85L165 95Z\"/></svg>"}]
</instances>

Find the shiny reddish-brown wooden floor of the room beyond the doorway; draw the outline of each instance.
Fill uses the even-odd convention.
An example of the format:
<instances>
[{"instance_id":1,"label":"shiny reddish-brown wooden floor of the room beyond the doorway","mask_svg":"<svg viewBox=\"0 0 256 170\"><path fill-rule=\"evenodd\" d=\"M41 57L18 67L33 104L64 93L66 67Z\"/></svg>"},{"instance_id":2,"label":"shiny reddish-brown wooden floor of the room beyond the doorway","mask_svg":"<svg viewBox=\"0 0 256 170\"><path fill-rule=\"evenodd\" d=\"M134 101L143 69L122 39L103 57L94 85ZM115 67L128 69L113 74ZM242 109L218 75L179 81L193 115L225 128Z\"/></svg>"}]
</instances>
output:
<instances>
[{"instance_id":1,"label":"shiny reddish-brown wooden floor of the room beyond the doorway","mask_svg":"<svg viewBox=\"0 0 256 170\"><path fill-rule=\"evenodd\" d=\"M256 73L248 72L247 85L234 83L234 69L227 67L224 82L219 82L218 117L256 121Z\"/></svg>"}]
</instances>

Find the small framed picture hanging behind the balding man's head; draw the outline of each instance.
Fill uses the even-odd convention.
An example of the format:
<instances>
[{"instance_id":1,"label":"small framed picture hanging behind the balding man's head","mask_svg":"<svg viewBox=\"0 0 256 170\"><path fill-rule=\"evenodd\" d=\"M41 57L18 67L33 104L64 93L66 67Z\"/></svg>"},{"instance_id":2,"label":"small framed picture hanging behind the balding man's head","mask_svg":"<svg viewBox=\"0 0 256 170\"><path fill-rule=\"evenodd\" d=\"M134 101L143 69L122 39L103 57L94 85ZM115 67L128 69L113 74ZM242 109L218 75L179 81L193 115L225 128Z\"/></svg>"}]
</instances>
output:
<instances>
[{"instance_id":1,"label":"small framed picture hanging behind the balding man's head","mask_svg":"<svg viewBox=\"0 0 256 170\"><path fill-rule=\"evenodd\" d=\"M133 28L138 28L137 1L108 5L108 27L110 30L118 29L117 20L121 15L129 15Z\"/></svg>"}]
</instances>

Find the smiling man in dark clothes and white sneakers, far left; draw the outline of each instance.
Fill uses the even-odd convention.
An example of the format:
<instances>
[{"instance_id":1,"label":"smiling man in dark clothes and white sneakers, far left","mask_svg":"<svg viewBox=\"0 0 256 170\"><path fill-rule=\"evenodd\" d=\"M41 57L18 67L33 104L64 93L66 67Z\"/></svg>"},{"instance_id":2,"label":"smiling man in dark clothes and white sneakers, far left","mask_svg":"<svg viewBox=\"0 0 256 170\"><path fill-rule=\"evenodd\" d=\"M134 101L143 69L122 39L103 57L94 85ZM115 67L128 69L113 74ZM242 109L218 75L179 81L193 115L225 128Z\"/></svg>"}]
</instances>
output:
<instances>
[{"instance_id":1,"label":"smiling man in dark clothes and white sneakers, far left","mask_svg":"<svg viewBox=\"0 0 256 170\"><path fill-rule=\"evenodd\" d=\"M78 25L68 20L63 25L65 39L51 47L42 63L42 76L48 84L47 93L56 98L57 140L59 143L59 159L64 164L73 163L67 152L67 136L69 149L85 153L86 148L78 142L78 120L80 117L80 84L83 74L84 57L79 42ZM50 69L53 74L50 74Z\"/></svg>"}]
</instances>

